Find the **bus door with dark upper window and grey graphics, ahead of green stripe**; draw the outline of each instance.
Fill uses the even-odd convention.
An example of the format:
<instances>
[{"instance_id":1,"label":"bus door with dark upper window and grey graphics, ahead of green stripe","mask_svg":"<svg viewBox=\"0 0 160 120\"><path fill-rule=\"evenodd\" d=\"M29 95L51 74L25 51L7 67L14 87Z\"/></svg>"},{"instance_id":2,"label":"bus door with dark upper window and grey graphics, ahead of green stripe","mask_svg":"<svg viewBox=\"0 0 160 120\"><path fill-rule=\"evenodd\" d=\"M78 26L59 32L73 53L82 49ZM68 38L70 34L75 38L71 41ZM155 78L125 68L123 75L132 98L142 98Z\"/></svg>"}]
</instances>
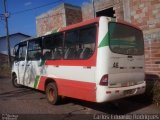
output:
<instances>
[{"instance_id":1,"label":"bus door with dark upper window and grey graphics, ahead of green stripe","mask_svg":"<svg viewBox=\"0 0 160 120\"><path fill-rule=\"evenodd\" d=\"M35 38L28 43L28 55L26 63L25 85L29 87L37 87L37 81L41 71L41 38Z\"/></svg>"}]
</instances>

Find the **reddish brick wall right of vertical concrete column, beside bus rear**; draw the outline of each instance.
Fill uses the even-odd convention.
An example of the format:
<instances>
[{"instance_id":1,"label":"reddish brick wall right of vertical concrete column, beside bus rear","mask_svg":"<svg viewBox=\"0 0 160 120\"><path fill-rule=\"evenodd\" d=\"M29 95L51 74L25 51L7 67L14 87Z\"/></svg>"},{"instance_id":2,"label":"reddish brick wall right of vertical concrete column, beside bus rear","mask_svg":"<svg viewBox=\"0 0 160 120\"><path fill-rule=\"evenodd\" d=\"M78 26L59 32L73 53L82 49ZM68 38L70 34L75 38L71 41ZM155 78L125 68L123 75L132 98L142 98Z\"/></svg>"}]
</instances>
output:
<instances>
[{"instance_id":1,"label":"reddish brick wall right of vertical concrete column, beside bus rear","mask_svg":"<svg viewBox=\"0 0 160 120\"><path fill-rule=\"evenodd\" d=\"M131 22L143 30L146 73L160 76L160 1L130 1Z\"/></svg>"}]
</instances>

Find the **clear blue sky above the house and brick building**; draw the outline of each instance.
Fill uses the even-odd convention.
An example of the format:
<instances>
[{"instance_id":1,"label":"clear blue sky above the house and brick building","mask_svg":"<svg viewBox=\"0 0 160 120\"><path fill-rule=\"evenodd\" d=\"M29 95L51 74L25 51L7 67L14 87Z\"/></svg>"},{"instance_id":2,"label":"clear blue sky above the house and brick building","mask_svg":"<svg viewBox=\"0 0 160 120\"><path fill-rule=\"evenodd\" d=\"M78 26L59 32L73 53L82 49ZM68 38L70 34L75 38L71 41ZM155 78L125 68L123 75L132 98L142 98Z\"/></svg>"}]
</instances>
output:
<instances>
[{"instance_id":1,"label":"clear blue sky above the house and brick building","mask_svg":"<svg viewBox=\"0 0 160 120\"><path fill-rule=\"evenodd\" d=\"M60 1L60 2L56 2ZM81 6L84 2L90 0L7 0L7 10L10 13L9 33L22 32L31 36L36 35L36 16L53 9L55 6L65 2ZM56 2L56 3L54 3ZM32 9L48 3L53 3L45 7L34 9L28 12L16 13L18 11ZM0 0L0 14L4 11L3 0ZM15 14L14 14L15 13ZM0 36L6 35L4 20L0 19Z\"/></svg>"}]
</instances>

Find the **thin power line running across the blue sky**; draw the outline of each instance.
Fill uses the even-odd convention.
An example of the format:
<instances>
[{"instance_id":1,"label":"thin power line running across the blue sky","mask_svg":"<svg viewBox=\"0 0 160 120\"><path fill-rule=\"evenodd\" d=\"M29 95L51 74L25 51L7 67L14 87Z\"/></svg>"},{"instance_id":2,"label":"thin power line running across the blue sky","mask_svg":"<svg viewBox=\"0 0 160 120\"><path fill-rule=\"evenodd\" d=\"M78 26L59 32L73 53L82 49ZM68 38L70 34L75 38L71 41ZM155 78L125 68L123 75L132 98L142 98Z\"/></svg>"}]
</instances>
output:
<instances>
[{"instance_id":1,"label":"thin power line running across the blue sky","mask_svg":"<svg viewBox=\"0 0 160 120\"><path fill-rule=\"evenodd\" d=\"M52 4L56 4L56 3L59 3L59 2L63 2L63 0L57 0L55 2L47 3L47 4L44 4L44 5L38 6L38 7L25 9L25 10L21 10L21 11L17 11L17 12L13 12L13 13L11 13L11 15L21 14L21 13L24 13L24 12L28 12L28 11L32 11L32 10L35 10L35 9L39 9L39 8L46 7L46 6L49 6L49 5L52 5Z\"/></svg>"}]
</instances>

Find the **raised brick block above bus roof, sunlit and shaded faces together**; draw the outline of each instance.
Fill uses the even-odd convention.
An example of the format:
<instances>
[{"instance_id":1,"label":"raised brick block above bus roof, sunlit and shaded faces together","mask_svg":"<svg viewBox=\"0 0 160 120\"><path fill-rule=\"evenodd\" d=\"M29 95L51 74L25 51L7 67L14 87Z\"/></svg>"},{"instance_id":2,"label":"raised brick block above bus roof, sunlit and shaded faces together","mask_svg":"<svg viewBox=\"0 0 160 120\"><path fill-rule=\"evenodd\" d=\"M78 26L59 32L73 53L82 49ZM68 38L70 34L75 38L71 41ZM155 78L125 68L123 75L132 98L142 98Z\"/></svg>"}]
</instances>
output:
<instances>
[{"instance_id":1,"label":"raised brick block above bus roof, sunlit and shaded faces together","mask_svg":"<svg viewBox=\"0 0 160 120\"><path fill-rule=\"evenodd\" d=\"M82 21L81 8L69 4L61 4L36 18L37 36L54 32L61 27L66 27Z\"/></svg>"}]
</instances>

